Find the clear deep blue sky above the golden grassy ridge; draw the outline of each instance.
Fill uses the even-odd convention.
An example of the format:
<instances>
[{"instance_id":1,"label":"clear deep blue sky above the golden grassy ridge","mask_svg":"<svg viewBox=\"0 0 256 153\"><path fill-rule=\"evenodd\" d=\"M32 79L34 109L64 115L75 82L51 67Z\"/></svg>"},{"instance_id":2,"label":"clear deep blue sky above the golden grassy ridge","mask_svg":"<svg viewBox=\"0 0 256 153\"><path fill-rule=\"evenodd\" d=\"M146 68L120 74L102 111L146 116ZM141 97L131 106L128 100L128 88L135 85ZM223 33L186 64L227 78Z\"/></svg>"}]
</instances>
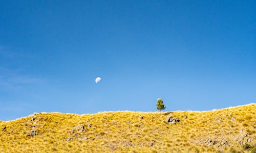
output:
<instances>
[{"instance_id":1,"label":"clear deep blue sky above the golden grassy ridge","mask_svg":"<svg viewBox=\"0 0 256 153\"><path fill-rule=\"evenodd\" d=\"M157 111L158 98L255 103L256 1L0 1L0 120Z\"/></svg>"}]
</instances>

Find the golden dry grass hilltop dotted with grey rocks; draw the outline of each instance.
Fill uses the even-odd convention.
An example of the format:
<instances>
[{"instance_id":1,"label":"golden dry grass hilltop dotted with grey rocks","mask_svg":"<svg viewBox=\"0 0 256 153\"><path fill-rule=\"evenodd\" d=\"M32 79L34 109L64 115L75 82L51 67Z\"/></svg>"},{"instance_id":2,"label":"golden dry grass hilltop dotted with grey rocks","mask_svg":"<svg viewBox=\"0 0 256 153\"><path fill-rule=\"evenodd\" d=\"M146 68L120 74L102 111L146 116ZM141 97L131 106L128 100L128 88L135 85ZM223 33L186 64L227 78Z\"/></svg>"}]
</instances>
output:
<instances>
[{"instance_id":1,"label":"golden dry grass hilltop dotted with grey rocks","mask_svg":"<svg viewBox=\"0 0 256 153\"><path fill-rule=\"evenodd\" d=\"M146 112L35 113L0 121L0 152L254 152L255 113L256 104L164 112L161 117Z\"/></svg>"}]
</instances>

